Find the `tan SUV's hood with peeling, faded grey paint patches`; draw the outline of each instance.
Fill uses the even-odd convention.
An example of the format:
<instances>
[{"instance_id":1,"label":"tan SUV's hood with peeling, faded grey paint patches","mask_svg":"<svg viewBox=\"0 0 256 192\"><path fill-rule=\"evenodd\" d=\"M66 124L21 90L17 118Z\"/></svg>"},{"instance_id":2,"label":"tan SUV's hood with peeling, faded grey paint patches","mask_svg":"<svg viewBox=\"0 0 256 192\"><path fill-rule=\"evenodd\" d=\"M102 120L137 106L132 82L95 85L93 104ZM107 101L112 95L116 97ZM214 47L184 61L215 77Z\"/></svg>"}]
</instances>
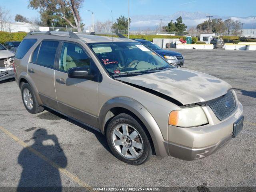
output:
<instances>
[{"instance_id":1,"label":"tan SUV's hood with peeling, faded grey paint patches","mask_svg":"<svg viewBox=\"0 0 256 192\"><path fill-rule=\"evenodd\" d=\"M231 88L214 76L182 68L116 79L160 92L183 105L218 98Z\"/></svg>"}]
</instances>

